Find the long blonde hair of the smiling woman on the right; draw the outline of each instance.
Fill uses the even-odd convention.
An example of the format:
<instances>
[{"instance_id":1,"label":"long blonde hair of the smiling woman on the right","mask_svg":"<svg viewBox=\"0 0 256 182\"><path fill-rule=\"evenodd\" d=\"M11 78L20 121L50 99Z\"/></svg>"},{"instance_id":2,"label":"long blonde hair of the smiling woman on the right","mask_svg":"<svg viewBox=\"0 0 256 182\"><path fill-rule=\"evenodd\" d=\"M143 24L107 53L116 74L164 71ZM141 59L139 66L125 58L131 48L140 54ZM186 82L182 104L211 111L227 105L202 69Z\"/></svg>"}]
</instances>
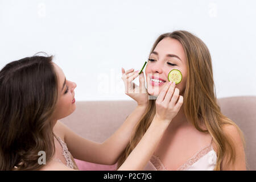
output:
<instances>
[{"instance_id":1,"label":"long blonde hair of the smiling woman on the right","mask_svg":"<svg viewBox=\"0 0 256 182\"><path fill-rule=\"evenodd\" d=\"M217 146L217 163L214 170L221 170L221 162L224 156L228 156L228 164L234 163L236 151L234 150L233 140L224 133L223 126L233 125L237 128L245 147L245 139L240 128L231 119L221 113L220 106L217 104L216 90L214 88L212 60L210 52L195 35L188 31L174 31L162 34L156 39L150 54L156 45L164 38L178 40L185 51L187 58L187 84L184 92L184 113L188 121L195 128L203 133L210 133ZM146 112L135 126L134 133L130 138L129 145L123 151L118 160L118 167L126 160L131 151L136 147L139 140L146 133L155 115L155 100L149 100ZM201 129L201 122L205 124L207 130Z\"/></svg>"}]
</instances>

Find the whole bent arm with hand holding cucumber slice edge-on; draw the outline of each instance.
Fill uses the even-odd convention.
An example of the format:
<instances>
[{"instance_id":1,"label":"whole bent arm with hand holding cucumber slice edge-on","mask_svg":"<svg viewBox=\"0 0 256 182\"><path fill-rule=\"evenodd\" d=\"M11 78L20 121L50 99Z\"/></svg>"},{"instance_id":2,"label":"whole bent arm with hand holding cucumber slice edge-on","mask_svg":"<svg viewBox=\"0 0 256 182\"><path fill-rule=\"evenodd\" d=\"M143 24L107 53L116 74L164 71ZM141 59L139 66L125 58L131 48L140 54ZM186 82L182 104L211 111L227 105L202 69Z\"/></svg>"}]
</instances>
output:
<instances>
[{"instance_id":1,"label":"whole bent arm with hand holding cucumber slice edge-on","mask_svg":"<svg viewBox=\"0 0 256 182\"><path fill-rule=\"evenodd\" d=\"M139 86L133 80L139 76ZM125 93L137 102L135 110L126 118L122 126L103 143L97 143L73 133L63 124L65 142L74 158L98 164L115 164L133 133L134 126L140 121L148 104L148 93L143 72L138 74L134 69L125 71L122 68L122 80L125 83Z\"/></svg>"}]
</instances>

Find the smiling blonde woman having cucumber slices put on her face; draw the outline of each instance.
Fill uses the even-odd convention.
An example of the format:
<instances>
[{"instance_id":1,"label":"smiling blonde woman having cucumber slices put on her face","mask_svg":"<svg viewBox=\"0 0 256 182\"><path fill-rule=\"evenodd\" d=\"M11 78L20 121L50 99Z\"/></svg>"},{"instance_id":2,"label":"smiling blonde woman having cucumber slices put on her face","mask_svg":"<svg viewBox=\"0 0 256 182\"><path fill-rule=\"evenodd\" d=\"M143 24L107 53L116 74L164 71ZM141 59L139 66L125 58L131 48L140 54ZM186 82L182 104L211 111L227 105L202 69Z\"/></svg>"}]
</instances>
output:
<instances>
[{"instance_id":1,"label":"smiling blonde woman having cucumber slices put on her face","mask_svg":"<svg viewBox=\"0 0 256 182\"><path fill-rule=\"evenodd\" d=\"M225 117L217 104L207 46L187 31L160 35L145 69L149 95L158 96L168 83L168 73L172 69L182 73L176 88L184 97L184 104L150 159L155 169L246 170L245 140L236 123ZM148 100L119 164L147 131L157 104L157 100Z\"/></svg>"}]
</instances>

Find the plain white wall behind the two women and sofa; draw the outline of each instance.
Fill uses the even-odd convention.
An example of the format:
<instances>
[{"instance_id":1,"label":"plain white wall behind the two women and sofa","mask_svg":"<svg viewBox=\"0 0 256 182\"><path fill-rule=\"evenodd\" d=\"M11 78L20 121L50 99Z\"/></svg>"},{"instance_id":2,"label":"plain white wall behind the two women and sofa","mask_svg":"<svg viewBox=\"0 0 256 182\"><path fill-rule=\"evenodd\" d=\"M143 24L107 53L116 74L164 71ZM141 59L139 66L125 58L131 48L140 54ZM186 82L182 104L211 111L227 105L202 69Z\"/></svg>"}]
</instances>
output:
<instances>
[{"instance_id":1,"label":"plain white wall behind the two women and sofa","mask_svg":"<svg viewBox=\"0 0 256 182\"><path fill-rule=\"evenodd\" d=\"M0 69L44 51L77 101L130 100L121 68L141 69L160 34L187 30L210 50L218 98L256 95L255 12L253 0L0 0Z\"/></svg>"}]
</instances>

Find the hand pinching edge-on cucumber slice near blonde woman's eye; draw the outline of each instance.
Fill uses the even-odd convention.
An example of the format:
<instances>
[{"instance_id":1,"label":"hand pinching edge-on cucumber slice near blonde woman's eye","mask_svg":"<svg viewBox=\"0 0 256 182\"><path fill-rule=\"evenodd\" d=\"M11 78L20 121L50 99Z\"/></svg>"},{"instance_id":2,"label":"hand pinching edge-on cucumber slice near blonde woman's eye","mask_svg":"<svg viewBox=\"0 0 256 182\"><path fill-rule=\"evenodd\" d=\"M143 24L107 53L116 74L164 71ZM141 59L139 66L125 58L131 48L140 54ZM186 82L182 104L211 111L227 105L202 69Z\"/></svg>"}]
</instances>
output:
<instances>
[{"instance_id":1,"label":"hand pinching edge-on cucumber slice near blonde woman's eye","mask_svg":"<svg viewBox=\"0 0 256 182\"><path fill-rule=\"evenodd\" d=\"M138 76L139 86L133 82ZM125 94L133 98L138 106L147 106L148 93L143 72L139 74L139 71L134 72L134 69L125 71L125 69L122 68L122 80L125 82Z\"/></svg>"}]
</instances>

